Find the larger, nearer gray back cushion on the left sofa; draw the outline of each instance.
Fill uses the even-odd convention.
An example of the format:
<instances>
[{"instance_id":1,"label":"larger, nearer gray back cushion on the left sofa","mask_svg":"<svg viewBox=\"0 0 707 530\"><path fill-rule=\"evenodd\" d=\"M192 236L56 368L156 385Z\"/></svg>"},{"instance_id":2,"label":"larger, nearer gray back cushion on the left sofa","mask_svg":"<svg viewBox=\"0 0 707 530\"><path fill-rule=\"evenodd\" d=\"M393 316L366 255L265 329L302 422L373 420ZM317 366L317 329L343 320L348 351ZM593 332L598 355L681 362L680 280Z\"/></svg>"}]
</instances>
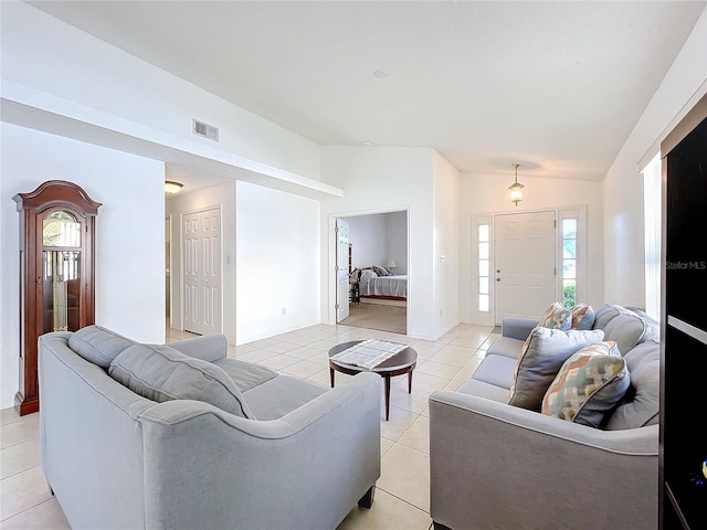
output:
<instances>
[{"instance_id":1,"label":"larger, nearer gray back cushion on the left sofa","mask_svg":"<svg viewBox=\"0 0 707 530\"><path fill-rule=\"evenodd\" d=\"M242 417L253 417L241 391L211 362L169 346L133 344L110 363L113 379L148 400L197 400Z\"/></svg>"}]
</instances>

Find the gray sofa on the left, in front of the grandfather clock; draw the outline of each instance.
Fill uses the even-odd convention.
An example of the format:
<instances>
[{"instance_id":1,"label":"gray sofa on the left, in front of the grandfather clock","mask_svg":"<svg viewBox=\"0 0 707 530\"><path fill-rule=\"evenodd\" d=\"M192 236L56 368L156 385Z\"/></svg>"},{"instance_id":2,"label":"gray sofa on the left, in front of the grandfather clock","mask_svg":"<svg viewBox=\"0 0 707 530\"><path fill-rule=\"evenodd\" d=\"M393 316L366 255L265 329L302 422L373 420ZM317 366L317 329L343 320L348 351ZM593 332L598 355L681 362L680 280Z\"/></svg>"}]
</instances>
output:
<instances>
[{"instance_id":1,"label":"gray sofa on the left, in front of the grandfather clock","mask_svg":"<svg viewBox=\"0 0 707 530\"><path fill-rule=\"evenodd\" d=\"M380 378L327 389L226 351L40 337L42 469L72 528L334 529L370 507Z\"/></svg>"}]
</instances>

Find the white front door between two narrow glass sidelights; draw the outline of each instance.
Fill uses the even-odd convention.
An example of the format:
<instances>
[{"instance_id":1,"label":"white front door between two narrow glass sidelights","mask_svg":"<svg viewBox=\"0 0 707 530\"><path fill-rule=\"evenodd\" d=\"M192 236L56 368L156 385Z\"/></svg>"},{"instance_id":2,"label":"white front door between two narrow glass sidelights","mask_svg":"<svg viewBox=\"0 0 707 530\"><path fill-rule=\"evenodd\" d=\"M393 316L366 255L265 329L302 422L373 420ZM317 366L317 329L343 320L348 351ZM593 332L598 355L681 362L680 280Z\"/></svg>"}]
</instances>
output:
<instances>
[{"instance_id":1,"label":"white front door between two narrow glass sidelights","mask_svg":"<svg viewBox=\"0 0 707 530\"><path fill-rule=\"evenodd\" d=\"M496 215L495 316L537 317L556 300L555 212Z\"/></svg>"}]
</instances>

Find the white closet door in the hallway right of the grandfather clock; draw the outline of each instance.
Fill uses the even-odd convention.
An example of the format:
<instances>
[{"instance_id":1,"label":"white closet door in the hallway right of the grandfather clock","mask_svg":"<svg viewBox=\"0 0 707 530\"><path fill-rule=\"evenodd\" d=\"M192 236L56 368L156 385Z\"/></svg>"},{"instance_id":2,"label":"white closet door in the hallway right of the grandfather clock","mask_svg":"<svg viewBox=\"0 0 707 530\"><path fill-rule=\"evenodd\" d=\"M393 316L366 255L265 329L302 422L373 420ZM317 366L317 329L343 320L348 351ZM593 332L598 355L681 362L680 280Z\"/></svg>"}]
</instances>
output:
<instances>
[{"instance_id":1,"label":"white closet door in the hallway right of the grandfather clock","mask_svg":"<svg viewBox=\"0 0 707 530\"><path fill-rule=\"evenodd\" d=\"M189 213L182 220L184 330L220 333L221 210Z\"/></svg>"}]
</instances>

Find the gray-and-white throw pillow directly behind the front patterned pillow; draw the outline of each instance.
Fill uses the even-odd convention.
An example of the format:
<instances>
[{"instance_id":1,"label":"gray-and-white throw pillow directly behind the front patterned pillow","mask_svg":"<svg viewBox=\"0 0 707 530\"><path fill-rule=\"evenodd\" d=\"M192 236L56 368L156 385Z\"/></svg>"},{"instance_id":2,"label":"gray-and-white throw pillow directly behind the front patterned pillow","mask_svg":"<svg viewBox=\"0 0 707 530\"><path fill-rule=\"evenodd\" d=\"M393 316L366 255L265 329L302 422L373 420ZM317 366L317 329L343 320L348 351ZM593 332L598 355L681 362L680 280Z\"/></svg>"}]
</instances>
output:
<instances>
[{"instance_id":1,"label":"gray-and-white throw pillow directly behind the front patterned pillow","mask_svg":"<svg viewBox=\"0 0 707 530\"><path fill-rule=\"evenodd\" d=\"M601 329L562 331L535 328L520 350L508 403L539 411L542 398L562 363L576 351L601 342L603 338Z\"/></svg>"}]
</instances>

